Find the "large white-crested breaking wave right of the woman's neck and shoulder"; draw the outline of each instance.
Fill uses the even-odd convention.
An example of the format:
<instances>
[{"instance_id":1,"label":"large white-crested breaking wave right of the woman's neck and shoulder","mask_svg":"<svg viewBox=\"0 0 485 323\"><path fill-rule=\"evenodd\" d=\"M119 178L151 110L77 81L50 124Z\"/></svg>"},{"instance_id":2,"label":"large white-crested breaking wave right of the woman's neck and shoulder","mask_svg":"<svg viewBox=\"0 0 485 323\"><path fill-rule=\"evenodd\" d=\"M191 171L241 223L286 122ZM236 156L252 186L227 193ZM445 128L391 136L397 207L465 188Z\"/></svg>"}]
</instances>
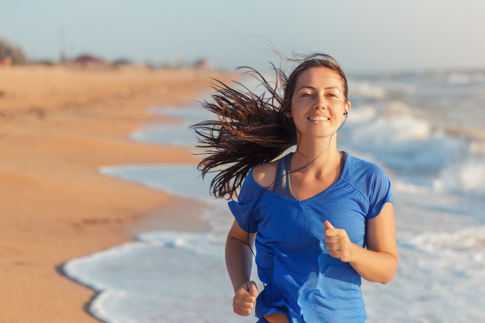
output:
<instances>
[{"instance_id":1,"label":"large white-crested breaking wave right of the woman's neck and shoulder","mask_svg":"<svg viewBox=\"0 0 485 323\"><path fill-rule=\"evenodd\" d=\"M467 148L465 141L433 131L426 120L403 112L349 123L342 130L345 136L339 139L340 144L360 154L371 154L372 160L397 174L416 177L407 180L412 184L422 185L426 178L432 181L430 175L437 176ZM418 183L413 183L415 180ZM431 187L431 183L427 185Z\"/></svg>"}]
</instances>

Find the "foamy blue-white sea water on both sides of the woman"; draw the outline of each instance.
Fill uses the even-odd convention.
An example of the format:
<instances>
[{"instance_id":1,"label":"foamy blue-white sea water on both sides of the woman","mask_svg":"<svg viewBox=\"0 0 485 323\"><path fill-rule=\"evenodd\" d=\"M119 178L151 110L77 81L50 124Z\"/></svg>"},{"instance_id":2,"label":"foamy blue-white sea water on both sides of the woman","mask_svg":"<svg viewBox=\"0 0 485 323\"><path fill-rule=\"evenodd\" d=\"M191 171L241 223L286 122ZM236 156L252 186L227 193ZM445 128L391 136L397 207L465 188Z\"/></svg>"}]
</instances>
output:
<instances>
[{"instance_id":1,"label":"foamy blue-white sea water on both sides of the woman","mask_svg":"<svg viewBox=\"0 0 485 323\"><path fill-rule=\"evenodd\" d=\"M363 280L367 322L483 322L485 73L356 76L349 86L339 150L376 163L390 178L400 257L388 285ZM131 139L192 147L187 126L212 118L196 105L149 113L179 124L148 124ZM210 198L210 178L202 181L194 165L100 172L203 201L200 216L211 230L147 232L67 262L69 277L98 292L93 315L113 323L256 321L232 313L224 243L233 217L225 201Z\"/></svg>"}]
</instances>

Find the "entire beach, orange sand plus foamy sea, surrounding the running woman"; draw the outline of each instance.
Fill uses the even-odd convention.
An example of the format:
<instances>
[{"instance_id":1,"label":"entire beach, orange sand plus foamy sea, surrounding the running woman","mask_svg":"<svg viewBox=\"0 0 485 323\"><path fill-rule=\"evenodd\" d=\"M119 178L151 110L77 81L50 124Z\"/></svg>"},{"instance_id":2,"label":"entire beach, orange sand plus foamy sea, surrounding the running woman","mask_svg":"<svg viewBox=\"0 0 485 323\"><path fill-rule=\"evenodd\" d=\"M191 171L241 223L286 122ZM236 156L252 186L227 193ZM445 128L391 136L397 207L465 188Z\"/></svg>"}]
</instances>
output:
<instances>
[{"instance_id":1,"label":"entire beach, orange sand plus foamy sea, surrounding the running woman","mask_svg":"<svg viewBox=\"0 0 485 323\"><path fill-rule=\"evenodd\" d=\"M238 75L0 70L0 322L255 321L232 312L233 216L191 154L209 77ZM349 77L338 149L388 175L400 257L388 285L362 280L366 322L483 321L484 89L481 71Z\"/></svg>"}]
</instances>

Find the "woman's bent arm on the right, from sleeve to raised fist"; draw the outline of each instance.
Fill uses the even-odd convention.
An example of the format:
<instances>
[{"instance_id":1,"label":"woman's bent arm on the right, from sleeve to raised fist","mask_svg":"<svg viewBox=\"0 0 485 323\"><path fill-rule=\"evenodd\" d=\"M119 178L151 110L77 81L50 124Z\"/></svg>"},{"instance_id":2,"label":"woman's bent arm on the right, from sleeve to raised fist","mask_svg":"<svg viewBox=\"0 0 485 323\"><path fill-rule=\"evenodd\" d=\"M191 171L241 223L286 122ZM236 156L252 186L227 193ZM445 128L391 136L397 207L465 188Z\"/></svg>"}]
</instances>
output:
<instances>
[{"instance_id":1,"label":"woman's bent arm on the right, from sleeve to raised fist","mask_svg":"<svg viewBox=\"0 0 485 323\"><path fill-rule=\"evenodd\" d=\"M398 254L391 202L384 205L379 215L367 220L367 249L352 243L345 230L334 228L328 221L324 226L330 256L349 262L366 280L388 284L394 278Z\"/></svg>"}]
</instances>

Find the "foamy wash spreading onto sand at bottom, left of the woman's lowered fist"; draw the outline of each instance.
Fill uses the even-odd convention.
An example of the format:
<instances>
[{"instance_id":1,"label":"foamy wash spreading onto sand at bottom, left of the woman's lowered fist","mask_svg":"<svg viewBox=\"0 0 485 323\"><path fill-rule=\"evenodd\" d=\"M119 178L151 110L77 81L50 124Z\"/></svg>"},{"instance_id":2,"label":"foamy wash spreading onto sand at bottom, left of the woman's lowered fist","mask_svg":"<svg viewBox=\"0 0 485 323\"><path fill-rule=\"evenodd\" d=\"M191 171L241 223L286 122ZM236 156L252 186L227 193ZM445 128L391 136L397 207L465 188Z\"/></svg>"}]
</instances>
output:
<instances>
[{"instance_id":1,"label":"foamy wash spreading onto sand at bottom, left of the woman's lowered fist","mask_svg":"<svg viewBox=\"0 0 485 323\"><path fill-rule=\"evenodd\" d=\"M65 264L69 277L99 292L90 311L108 323L254 322L232 311L226 236L150 232ZM256 268L253 268L256 273ZM257 277L252 277L259 284Z\"/></svg>"}]
</instances>

